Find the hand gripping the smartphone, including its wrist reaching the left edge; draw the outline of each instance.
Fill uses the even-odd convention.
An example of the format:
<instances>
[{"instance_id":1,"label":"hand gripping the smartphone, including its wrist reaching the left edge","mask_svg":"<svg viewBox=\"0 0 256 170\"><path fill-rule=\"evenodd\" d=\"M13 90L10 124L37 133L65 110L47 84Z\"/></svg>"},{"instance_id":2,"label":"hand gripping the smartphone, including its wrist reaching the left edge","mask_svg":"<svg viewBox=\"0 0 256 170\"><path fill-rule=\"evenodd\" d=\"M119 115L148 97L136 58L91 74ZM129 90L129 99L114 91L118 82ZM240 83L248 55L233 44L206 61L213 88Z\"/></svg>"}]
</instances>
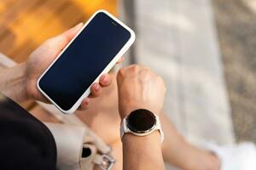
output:
<instances>
[{"instance_id":1,"label":"hand gripping the smartphone, including its wrist reaching the left edge","mask_svg":"<svg viewBox=\"0 0 256 170\"><path fill-rule=\"evenodd\" d=\"M0 76L0 90L3 94L20 102L26 99L34 99L48 103L43 94L38 91L37 81L51 62L61 53L61 50L67 46L73 37L83 27L83 23L74 26L61 35L52 37L45 41L30 55L29 59L20 65L2 71ZM119 60L121 62L123 58ZM89 98L95 98L102 94L102 88L108 87L111 83L111 77L108 74L103 75L99 82L95 82L91 88ZM80 109L87 109L89 98L82 101Z\"/></svg>"}]
</instances>

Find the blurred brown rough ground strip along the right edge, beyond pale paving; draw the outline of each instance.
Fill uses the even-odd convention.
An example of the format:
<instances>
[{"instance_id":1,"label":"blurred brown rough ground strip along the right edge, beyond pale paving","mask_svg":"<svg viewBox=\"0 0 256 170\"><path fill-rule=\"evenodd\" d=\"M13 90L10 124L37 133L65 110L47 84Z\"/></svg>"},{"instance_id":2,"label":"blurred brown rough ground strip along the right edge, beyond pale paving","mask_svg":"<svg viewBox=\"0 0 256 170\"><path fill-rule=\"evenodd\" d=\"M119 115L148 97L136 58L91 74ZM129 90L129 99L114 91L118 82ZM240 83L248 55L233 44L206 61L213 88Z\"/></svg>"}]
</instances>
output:
<instances>
[{"instance_id":1,"label":"blurred brown rough ground strip along the right edge, beyond pale paving","mask_svg":"<svg viewBox=\"0 0 256 170\"><path fill-rule=\"evenodd\" d=\"M236 139L256 142L256 1L213 0Z\"/></svg>"}]
</instances>

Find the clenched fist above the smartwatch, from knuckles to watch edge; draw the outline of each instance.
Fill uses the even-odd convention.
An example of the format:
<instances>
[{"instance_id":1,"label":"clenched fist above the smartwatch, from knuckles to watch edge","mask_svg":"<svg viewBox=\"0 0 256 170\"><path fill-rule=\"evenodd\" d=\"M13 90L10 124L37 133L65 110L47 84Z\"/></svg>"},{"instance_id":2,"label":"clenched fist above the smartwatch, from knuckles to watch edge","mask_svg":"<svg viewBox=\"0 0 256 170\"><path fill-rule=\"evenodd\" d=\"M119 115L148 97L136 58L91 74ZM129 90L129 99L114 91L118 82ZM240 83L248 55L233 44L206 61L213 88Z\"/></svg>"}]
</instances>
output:
<instances>
[{"instance_id":1,"label":"clenched fist above the smartwatch, from knuckles to watch edge","mask_svg":"<svg viewBox=\"0 0 256 170\"><path fill-rule=\"evenodd\" d=\"M119 114L121 118L136 109L148 109L159 115L164 105L166 84L148 68L130 65L119 70Z\"/></svg>"}]
</instances>

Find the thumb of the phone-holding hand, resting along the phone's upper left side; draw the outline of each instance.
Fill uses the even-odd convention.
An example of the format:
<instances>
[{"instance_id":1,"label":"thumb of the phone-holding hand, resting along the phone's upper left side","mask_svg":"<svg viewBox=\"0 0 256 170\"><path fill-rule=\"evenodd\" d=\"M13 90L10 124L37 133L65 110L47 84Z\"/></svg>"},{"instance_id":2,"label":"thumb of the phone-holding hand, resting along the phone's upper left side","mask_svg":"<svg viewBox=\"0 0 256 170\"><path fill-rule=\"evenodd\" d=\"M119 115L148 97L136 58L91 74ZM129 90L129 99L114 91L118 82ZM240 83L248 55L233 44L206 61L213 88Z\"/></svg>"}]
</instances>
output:
<instances>
[{"instance_id":1,"label":"thumb of the phone-holding hand, resting along the phone's upper left side","mask_svg":"<svg viewBox=\"0 0 256 170\"><path fill-rule=\"evenodd\" d=\"M77 26L64 31L60 35L50 38L46 43L48 43L50 47L61 50L62 48L65 48L67 43L70 42L73 37L79 33L82 27L83 23L79 23Z\"/></svg>"}]
</instances>

